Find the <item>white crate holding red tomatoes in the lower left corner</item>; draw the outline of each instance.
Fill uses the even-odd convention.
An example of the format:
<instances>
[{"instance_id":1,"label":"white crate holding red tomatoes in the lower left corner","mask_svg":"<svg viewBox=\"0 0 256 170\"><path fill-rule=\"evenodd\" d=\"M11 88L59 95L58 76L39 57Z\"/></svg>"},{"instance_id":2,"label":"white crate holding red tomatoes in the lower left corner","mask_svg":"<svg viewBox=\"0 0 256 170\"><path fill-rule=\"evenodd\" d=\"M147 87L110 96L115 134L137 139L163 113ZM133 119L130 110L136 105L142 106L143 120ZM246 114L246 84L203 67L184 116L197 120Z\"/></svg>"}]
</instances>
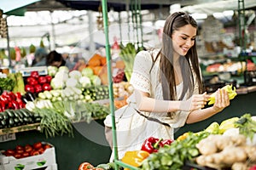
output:
<instances>
[{"instance_id":1,"label":"white crate holding red tomatoes in the lower left corner","mask_svg":"<svg viewBox=\"0 0 256 170\"><path fill-rule=\"evenodd\" d=\"M46 144L42 142L43 144ZM0 154L0 169L1 170L32 170L45 169L57 170L55 160L55 147L45 150L43 154L37 156L29 156L16 159L14 156L4 156Z\"/></svg>"}]
</instances>

